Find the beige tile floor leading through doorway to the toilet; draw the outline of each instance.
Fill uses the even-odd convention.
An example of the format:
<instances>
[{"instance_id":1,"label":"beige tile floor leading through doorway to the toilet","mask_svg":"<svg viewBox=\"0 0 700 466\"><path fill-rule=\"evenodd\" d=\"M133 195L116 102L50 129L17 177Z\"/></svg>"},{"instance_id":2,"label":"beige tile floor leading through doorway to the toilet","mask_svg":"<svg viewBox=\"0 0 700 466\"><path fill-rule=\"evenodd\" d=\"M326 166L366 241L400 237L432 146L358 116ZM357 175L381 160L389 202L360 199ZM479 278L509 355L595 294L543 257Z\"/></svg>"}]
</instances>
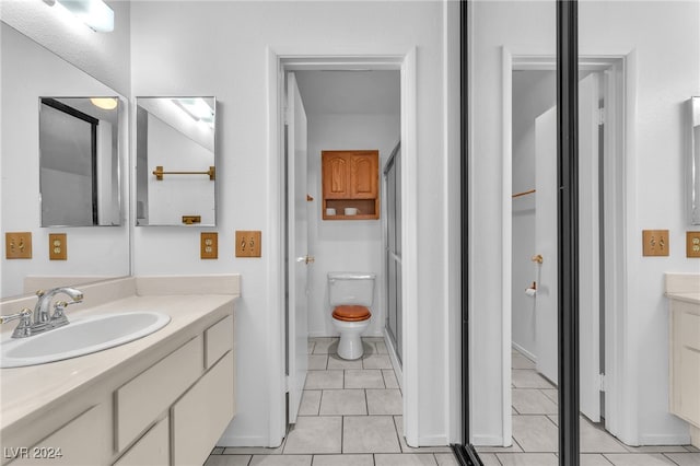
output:
<instances>
[{"instance_id":1,"label":"beige tile floor leading through doorway to the toilet","mask_svg":"<svg viewBox=\"0 0 700 466\"><path fill-rule=\"evenodd\" d=\"M338 358L337 338L312 338L296 424L277 448L217 447L205 466L456 466L450 447L404 440L401 391L382 338Z\"/></svg>"}]
</instances>

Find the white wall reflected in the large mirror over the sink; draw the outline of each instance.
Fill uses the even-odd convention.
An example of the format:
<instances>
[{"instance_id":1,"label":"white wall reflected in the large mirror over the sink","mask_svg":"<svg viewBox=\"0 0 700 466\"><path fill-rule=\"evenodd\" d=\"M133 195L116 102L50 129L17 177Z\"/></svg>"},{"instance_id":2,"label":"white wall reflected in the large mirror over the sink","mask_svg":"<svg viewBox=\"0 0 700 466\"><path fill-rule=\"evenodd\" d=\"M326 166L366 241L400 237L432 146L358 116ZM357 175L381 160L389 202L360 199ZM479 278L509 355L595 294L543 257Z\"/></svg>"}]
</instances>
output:
<instances>
[{"instance_id":1,"label":"white wall reflected in the large mirror over the sink","mask_svg":"<svg viewBox=\"0 0 700 466\"><path fill-rule=\"evenodd\" d=\"M121 226L39 228L39 96L114 95L115 91L5 23L0 23L0 33L2 244L4 251L5 232L32 232L33 248L32 259L8 260L2 254L2 296L21 294L27 275L129 275L127 205ZM126 128L126 112L120 125ZM126 152L127 131L121 133L120 145ZM127 159L125 155L120 166L121 179L127 175ZM68 260L48 259L48 234L54 232L68 234Z\"/></svg>"}]
</instances>

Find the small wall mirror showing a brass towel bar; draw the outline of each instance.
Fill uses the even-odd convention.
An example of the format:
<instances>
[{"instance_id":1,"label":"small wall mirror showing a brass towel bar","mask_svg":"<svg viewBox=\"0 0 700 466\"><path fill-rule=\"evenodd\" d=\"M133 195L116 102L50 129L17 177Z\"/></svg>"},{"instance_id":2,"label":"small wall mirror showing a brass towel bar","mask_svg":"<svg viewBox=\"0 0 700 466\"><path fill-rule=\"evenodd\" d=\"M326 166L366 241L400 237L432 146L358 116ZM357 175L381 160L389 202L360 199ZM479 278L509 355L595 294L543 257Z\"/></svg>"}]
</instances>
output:
<instances>
[{"instance_id":1,"label":"small wall mirror showing a brass towel bar","mask_svg":"<svg viewBox=\"0 0 700 466\"><path fill-rule=\"evenodd\" d=\"M137 97L137 225L215 225L214 97Z\"/></svg>"}]
</instances>

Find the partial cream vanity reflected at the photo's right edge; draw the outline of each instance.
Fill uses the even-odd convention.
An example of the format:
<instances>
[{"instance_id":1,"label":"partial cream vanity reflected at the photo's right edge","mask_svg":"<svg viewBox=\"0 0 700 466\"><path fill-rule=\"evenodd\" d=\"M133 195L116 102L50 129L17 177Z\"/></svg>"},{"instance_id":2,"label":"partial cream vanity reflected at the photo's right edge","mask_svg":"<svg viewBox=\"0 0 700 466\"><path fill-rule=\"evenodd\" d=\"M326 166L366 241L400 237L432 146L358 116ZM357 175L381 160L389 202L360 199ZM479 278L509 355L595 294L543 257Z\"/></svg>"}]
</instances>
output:
<instances>
[{"instance_id":1,"label":"partial cream vanity reflected at the photo's right edge","mask_svg":"<svg viewBox=\"0 0 700 466\"><path fill-rule=\"evenodd\" d=\"M666 273L670 303L670 412L690 424L700 447L700 275Z\"/></svg>"}]
</instances>

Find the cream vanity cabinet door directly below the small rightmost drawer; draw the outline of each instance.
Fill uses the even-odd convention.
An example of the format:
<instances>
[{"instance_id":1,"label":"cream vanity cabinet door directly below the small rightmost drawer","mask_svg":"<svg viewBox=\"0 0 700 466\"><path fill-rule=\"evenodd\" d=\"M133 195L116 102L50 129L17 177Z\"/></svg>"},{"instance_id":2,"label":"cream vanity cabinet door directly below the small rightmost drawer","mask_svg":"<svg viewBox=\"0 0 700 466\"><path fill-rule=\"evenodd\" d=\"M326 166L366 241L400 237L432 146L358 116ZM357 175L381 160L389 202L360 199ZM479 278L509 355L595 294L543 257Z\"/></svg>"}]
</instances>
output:
<instances>
[{"instance_id":1,"label":"cream vanity cabinet door directly below the small rightmost drawer","mask_svg":"<svg viewBox=\"0 0 700 466\"><path fill-rule=\"evenodd\" d=\"M233 351L171 409L173 465L200 465L235 415Z\"/></svg>"}]
</instances>

